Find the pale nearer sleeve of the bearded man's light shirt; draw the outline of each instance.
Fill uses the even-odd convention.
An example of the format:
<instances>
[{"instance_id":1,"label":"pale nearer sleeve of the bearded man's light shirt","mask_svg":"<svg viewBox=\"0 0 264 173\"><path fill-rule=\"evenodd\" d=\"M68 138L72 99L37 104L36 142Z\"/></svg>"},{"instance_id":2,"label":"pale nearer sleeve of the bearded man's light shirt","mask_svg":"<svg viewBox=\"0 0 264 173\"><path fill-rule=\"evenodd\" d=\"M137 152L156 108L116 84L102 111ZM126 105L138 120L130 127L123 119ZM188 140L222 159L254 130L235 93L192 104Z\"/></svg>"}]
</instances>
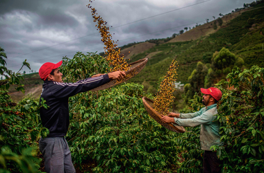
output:
<instances>
[{"instance_id":1,"label":"pale nearer sleeve of the bearded man's light shirt","mask_svg":"<svg viewBox=\"0 0 264 173\"><path fill-rule=\"evenodd\" d=\"M177 125L181 125L183 127L195 127L197 125L203 125L208 122L212 122L213 116L208 113L202 113L201 116L196 116L195 118L181 119L174 118L174 122Z\"/></svg>"}]
</instances>

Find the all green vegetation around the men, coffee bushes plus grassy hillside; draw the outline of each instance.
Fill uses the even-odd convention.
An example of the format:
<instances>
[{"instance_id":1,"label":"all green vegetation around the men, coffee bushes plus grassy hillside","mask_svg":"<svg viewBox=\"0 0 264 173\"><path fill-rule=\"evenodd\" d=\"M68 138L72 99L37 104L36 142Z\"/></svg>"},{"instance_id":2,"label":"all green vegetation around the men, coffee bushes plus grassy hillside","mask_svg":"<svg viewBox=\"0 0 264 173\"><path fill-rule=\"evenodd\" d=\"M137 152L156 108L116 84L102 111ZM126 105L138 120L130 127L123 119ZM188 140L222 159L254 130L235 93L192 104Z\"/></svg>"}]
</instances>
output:
<instances>
[{"instance_id":1,"label":"all green vegetation around the men, coffee bushes plus grassy hillside","mask_svg":"<svg viewBox=\"0 0 264 173\"><path fill-rule=\"evenodd\" d=\"M249 6L264 5L256 1ZM185 86L174 92L173 109L198 111L203 107L199 88L216 84L223 93L217 120L224 145L212 148L223 161L222 172L263 172L263 12L242 12L229 24L218 24L216 33L190 42L149 40L156 46L131 60L159 53L131 83L69 98L66 137L75 167L81 172L201 172L200 127L186 127L184 134L169 131L148 116L141 100L153 98L176 57L177 81ZM41 172L38 140L49 131L41 125L39 108L47 104L29 98L15 104L8 95L10 89L24 91L23 84L34 84L30 79L38 74L8 70L6 57L0 48L0 74L6 77L0 80L0 172ZM22 65L30 67L26 61ZM106 73L108 65L94 53L76 53L72 60L63 57L60 70L65 82L76 82Z\"/></svg>"}]
</instances>

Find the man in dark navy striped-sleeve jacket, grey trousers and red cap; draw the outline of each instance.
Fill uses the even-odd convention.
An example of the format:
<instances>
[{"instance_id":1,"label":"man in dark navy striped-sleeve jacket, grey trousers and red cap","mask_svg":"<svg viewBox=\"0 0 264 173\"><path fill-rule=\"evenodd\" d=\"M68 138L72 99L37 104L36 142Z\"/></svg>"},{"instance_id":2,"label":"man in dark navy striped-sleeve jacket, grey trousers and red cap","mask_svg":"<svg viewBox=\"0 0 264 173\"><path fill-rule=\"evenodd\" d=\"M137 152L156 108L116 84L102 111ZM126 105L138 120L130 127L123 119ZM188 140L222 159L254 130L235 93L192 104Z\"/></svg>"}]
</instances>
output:
<instances>
[{"instance_id":1,"label":"man in dark navy striped-sleeve jacket, grey trousers and red cap","mask_svg":"<svg viewBox=\"0 0 264 173\"><path fill-rule=\"evenodd\" d=\"M42 125L49 129L47 138L40 138L40 152L44 156L46 172L75 172L72 157L65 135L69 127L68 98L77 93L89 91L110 80L121 80L126 76L124 71L108 74L97 74L75 83L64 83L63 74L58 69L63 61L53 64L46 62L40 67L40 78L44 80L40 102L46 100L48 106L40 108Z\"/></svg>"}]
</instances>

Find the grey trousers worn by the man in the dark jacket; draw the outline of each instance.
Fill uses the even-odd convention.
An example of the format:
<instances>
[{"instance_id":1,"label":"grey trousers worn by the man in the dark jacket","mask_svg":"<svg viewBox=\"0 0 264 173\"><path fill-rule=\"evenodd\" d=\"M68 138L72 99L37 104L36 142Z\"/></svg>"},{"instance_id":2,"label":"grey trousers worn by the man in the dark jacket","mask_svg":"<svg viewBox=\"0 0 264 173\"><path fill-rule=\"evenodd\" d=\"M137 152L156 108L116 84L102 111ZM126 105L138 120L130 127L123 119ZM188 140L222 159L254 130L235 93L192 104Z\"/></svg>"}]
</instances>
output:
<instances>
[{"instance_id":1,"label":"grey trousers worn by the man in the dark jacket","mask_svg":"<svg viewBox=\"0 0 264 173\"><path fill-rule=\"evenodd\" d=\"M75 172L71 152L64 137L40 138L39 144L47 173Z\"/></svg>"}]
</instances>

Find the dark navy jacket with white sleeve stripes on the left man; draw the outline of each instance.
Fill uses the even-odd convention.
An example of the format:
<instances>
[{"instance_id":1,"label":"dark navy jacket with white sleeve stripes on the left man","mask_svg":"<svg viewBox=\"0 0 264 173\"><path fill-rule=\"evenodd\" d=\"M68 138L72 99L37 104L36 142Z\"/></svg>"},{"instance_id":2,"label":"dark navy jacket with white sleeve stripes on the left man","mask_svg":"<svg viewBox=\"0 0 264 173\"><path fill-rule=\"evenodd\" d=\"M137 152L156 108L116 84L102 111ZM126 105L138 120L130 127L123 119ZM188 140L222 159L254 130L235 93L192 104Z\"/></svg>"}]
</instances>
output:
<instances>
[{"instance_id":1,"label":"dark navy jacket with white sleeve stripes on the left man","mask_svg":"<svg viewBox=\"0 0 264 173\"><path fill-rule=\"evenodd\" d=\"M60 137L67 134L69 127L69 97L89 91L109 81L108 74L80 80L76 83L44 81L40 102L41 98L44 98L48 109L40 108L40 118L42 125L49 129L48 137Z\"/></svg>"}]
</instances>

